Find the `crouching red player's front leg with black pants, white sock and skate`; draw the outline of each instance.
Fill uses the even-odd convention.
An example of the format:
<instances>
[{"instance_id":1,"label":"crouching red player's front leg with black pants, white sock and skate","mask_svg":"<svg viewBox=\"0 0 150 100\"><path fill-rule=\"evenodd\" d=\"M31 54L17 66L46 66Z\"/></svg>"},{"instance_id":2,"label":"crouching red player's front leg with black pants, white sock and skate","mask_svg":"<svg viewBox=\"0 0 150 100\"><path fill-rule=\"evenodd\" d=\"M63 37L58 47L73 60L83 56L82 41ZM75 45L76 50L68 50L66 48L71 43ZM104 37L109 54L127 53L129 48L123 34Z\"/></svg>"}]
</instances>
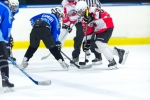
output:
<instances>
[{"instance_id":1,"label":"crouching red player's front leg with black pants, white sock and skate","mask_svg":"<svg viewBox=\"0 0 150 100\"><path fill-rule=\"evenodd\" d=\"M96 45L100 53L103 53L106 59L109 61L108 68L117 68L117 63L113 57L113 54L108 46L108 41L112 35L113 29L107 29L105 32L96 36Z\"/></svg>"}]
</instances>

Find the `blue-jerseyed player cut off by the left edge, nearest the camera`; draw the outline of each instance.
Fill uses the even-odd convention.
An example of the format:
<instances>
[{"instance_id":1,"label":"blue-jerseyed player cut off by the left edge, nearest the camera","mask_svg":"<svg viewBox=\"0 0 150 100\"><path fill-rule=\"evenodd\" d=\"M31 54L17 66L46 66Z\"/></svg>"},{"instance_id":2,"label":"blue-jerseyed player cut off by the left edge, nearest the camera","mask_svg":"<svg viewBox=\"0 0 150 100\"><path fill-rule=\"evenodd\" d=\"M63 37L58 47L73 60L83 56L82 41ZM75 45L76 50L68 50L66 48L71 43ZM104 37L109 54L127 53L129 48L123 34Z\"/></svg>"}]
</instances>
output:
<instances>
[{"instance_id":1,"label":"blue-jerseyed player cut off by the left edge, nearest the camera","mask_svg":"<svg viewBox=\"0 0 150 100\"><path fill-rule=\"evenodd\" d=\"M9 82L9 65L8 65L8 51L6 49L6 43L10 38L10 30L12 28L11 17L11 1L0 1L0 70L2 76L2 87L4 92L13 91L11 88L14 84Z\"/></svg>"}]
</instances>

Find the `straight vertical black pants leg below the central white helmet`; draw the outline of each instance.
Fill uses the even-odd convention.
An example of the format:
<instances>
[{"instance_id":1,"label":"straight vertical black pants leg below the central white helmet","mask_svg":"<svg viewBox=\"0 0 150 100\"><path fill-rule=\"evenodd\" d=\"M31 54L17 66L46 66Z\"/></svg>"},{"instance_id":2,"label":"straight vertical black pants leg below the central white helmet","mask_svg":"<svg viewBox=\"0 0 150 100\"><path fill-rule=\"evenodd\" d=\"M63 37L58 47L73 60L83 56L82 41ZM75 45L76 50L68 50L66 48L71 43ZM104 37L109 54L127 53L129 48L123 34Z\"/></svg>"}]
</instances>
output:
<instances>
[{"instance_id":1,"label":"straight vertical black pants leg below the central white helmet","mask_svg":"<svg viewBox=\"0 0 150 100\"><path fill-rule=\"evenodd\" d=\"M74 37L74 50L72 52L72 58L79 58L80 48L84 34L81 22L78 22L75 26L76 26L76 36Z\"/></svg>"}]
</instances>

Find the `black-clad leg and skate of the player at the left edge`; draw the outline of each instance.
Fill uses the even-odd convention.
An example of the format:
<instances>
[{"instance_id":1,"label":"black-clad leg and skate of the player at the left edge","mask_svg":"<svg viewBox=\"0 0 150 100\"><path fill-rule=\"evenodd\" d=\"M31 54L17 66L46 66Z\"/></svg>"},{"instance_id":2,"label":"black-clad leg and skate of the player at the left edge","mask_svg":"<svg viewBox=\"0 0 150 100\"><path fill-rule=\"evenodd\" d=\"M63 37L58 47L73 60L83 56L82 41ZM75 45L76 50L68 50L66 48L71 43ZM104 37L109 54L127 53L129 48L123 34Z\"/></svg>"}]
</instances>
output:
<instances>
[{"instance_id":1,"label":"black-clad leg and skate of the player at the left edge","mask_svg":"<svg viewBox=\"0 0 150 100\"><path fill-rule=\"evenodd\" d=\"M9 55L6 49L6 44L4 42L0 42L0 70L2 77L2 87L4 87L4 92L13 91L10 88L14 87L14 84L9 82L9 66L7 61L8 57Z\"/></svg>"}]
</instances>

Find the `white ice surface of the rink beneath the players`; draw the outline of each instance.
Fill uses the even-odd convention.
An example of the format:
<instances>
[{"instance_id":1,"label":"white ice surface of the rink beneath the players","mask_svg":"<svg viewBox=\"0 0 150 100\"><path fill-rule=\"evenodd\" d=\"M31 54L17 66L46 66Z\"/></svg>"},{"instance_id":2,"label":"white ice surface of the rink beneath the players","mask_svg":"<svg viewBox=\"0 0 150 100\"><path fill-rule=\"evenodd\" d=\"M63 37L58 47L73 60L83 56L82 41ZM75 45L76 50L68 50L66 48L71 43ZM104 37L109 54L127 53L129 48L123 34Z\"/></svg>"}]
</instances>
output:
<instances>
[{"instance_id":1,"label":"white ice surface of the rink beneath the players","mask_svg":"<svg viewBox=\"0 0 150 100\"><path fill-rule=\"evenodd\" d=\"M36 86L20 70L10 65L10 82L14 92L4 93L0 82L0 100L150 100L150 45L118 46L129 50L125 65L117 70L108 70L108 61L103 56L102 65L90 69L70 67L65 71L50 56L47 49L38 49L25 70L35 80L51 80L49 86ZM73 48L63 48L70 58ZM18 65L26 50L13 50ZM89 58L94 59L92 54ZM118 57L115 56L118 62ZM69 64L69 60L65 58ZM84 61L84 53L80 55Z\"/></svg>"}]
</instances>

